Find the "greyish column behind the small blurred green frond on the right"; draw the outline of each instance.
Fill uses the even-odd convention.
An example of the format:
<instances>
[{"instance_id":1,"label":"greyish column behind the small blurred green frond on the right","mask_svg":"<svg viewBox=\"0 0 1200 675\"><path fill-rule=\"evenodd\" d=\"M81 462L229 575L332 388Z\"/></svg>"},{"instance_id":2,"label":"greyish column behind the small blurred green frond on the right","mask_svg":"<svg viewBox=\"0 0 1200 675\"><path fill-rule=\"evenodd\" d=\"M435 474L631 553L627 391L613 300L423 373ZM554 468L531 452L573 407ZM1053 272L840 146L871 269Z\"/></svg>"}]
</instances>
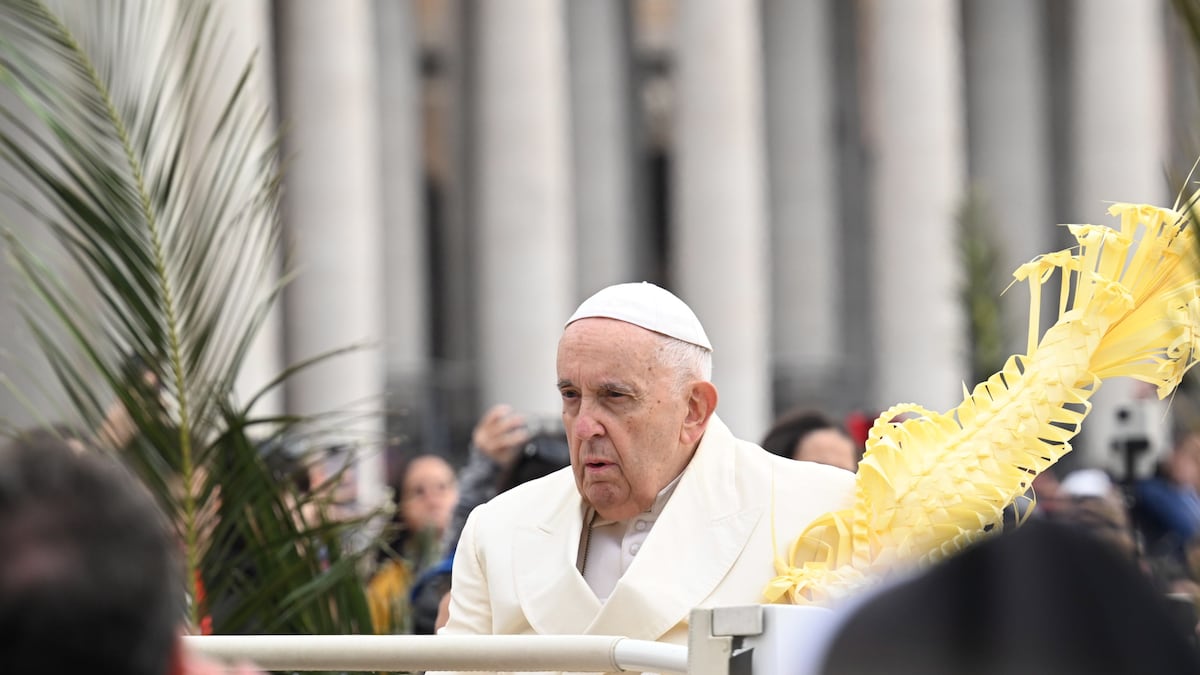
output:
<instances>
[{"instance_id":1,"label":"greyish column behind the small blurred green frond on the right","mask_svg":"<svg viewBox=\"0 0 1200 675\"><path fill-rule=\"evenodd\" d=\"M967 129L971 180L996 226L1002 275L1057 247L1052 195L1044 4L1039 0L964 5L967 64ZM1055 303L1043 303L1042 329ZM1001 298L1006 354L1025 353L1030 294L1013 287ZM972 382L967 383L973 384Z\"/></svg>"}]
</instances>

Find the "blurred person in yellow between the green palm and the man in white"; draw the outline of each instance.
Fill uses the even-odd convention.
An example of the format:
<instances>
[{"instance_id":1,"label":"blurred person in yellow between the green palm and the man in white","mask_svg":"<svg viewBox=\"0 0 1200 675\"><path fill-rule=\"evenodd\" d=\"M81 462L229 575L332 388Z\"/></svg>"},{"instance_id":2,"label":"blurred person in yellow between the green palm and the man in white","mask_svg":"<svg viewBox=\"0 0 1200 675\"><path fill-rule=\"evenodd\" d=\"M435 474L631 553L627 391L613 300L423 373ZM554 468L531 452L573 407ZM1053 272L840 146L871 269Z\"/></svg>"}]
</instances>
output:
<instances>
[{"instance_id":1,"label":"blurred person in yellow between the green palm and the man in white","mask_svg":"<svg viewBox=\"0 0 1200 675\"><path fill-rule=\"evenodd\" d=\"M440 542L458 501L457 479L439 455L410 458L400 473L396 533L367 584L376 633L409 633L413 581L442 558Z\"/></svg>"}]
</instances>

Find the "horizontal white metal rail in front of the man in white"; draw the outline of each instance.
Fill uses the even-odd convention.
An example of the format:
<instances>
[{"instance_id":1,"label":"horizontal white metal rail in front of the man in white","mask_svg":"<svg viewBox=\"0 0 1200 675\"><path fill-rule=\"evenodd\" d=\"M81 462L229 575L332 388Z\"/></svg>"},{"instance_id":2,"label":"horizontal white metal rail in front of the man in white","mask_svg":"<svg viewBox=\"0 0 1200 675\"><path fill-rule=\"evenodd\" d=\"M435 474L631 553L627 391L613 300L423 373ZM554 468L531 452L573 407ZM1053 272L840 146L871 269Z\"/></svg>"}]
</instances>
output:
<instances>
[{"instance_id":1,"label":"horizontal white metal rail in front of the man in white","mask_svg":"<svg viewBox=\"0 0 1200 675\"><path fill-rule=\"evenodd\" d=\"M184 643L266 670L688 671L688 647L616 635L188 635Z\"/></svg>"}]
</instances>

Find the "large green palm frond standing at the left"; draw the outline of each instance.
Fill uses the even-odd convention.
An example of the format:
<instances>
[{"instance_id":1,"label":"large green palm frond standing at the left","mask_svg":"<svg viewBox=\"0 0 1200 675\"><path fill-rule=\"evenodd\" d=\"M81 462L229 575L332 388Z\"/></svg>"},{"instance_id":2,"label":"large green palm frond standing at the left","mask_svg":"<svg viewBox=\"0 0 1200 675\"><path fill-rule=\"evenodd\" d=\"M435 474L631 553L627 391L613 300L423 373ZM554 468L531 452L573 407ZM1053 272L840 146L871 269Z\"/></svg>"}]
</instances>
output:
<instances>
[{"instance_id":1,"label":"large green palm frond standing at the left","mask_svg":"<svg viewBox=\"0 0 1200 675\"><path fill-rule=\"evenodd\" d=\"M234 394L280 292L280 174L250 66L221 85L221 40L202 1L0 4L0 82L14 94L0 161L18 177L4 189L91 287L10 234L23 311L73 417L103 430L116 406L132 424L98 441L121 446L174 515L193 622L367 632L364 554L342 545L361 521L299 518L328 495L282 480L263 448L300 420L254 418Z\"/></svg>"}]
</instances>

